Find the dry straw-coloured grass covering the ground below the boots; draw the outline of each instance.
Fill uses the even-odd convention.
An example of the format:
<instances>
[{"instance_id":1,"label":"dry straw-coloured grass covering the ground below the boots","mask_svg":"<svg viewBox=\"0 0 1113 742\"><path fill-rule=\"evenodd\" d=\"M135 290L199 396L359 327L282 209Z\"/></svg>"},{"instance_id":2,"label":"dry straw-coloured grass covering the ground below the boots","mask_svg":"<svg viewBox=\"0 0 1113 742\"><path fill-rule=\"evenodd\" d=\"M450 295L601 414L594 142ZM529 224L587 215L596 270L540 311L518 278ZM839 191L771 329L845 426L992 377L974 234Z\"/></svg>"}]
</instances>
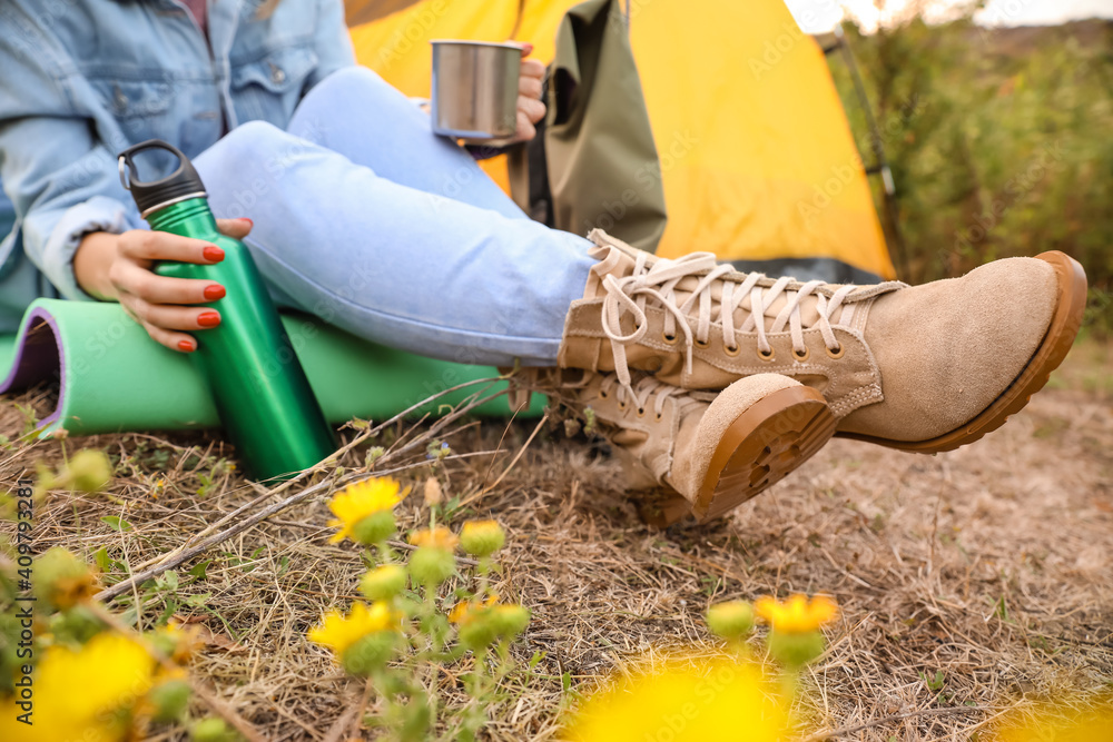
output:
<instances>
[{"instance_id":1,"label":"dry straw-coloured grass covering the ground below the boots","mask_svg":"<svg viewBox=\"0 0 1113 742\"><path fill-rule=\"evenodd\" d=\"M976 445L925 457L835 441L729 520L664 532L640 523L605 451L548 428L480 495L534 423L454 425L447 441L456 454L502 453L452 458L434 475L450 496L472 501L455 522L485 515L508 526L500 592L533 612L518 653L544 653L536 676L508 687L490 736L559 738L561 710L574 702L562 676L589 690L647 651L717 652L701 620L712 601L792 591L828 592L843 607L827 655L805 679L814 726L954 709L849 739L969 739L1020 699L1065 689L1107 692L1111 354L1110 346L1080 348L1057 388ZM1085 382L1092 378L1097 383ZM22 429L17 403L41 412L48 395L40 389L0 402L0 433ZM395 431L387 444L427 434L429 424ZM228 447L211 434L39 442L0 453L0 481L13 482L39 461L57 465L63 451L79 446L119 458L110 497L51 493L37 514L39 548L61 545L91 558L104 546L135 568L259 493L221 463ZM365 449L345 458L349 473ZM381 468L410 464L401 476L420 492L430 476L423 443L413 454L384 458ZM203 487L205 477L211 482ZM114 531L105 516L131 530ZM401 522L412 527L422 517L411 496ZM184 564L176 593L141 605L145 625L169 610L206 627L210 642L196 672L268 739L323 739L362 690L305 640L324 610L355 597L361 571L349 544L327 543L327 520L324 497L312 497ZM207 560L204 580L189 575ZM106 583L121 576L109 572ZM198 595L207 596L186 603ZM111 607L134 611L136 597L131 591ZM441 681L452 693L454 675Z\"/></svg>"}]
</instances>

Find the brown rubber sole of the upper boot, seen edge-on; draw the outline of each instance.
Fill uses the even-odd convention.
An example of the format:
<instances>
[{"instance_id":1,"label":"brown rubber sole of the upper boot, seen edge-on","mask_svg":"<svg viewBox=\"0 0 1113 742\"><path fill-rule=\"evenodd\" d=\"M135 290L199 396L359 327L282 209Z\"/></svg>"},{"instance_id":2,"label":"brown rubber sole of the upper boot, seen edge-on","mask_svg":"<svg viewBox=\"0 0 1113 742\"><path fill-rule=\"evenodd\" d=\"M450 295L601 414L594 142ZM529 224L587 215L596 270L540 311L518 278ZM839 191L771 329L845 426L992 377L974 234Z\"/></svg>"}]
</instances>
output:
<instances>
[{"instance_id":1,"label":"brown rubber sole of the upper boot, seen edge-on","mask_svg":"<svg viewBox=\"0 0 1113 742\"><path fill-rule=\"evenodd\" d=\"M893 441L860 433L840 432L836 435L900 451L936 454L974 443L987 433L996 431L1012 415L1023 409L1032 399L1032 395L1043 388L1051 378L1051 373L1058 368L1066 354L1071 352L1074 338L1082 328L1082 316L1086 309L1086 273L1082 269L1082 265L1058 250L1042 253L1036 258L1046 260L1055 269L1055 276L1058 278L1058 305L1040 347L1028 359L1024 370L992 405L965 425L928 441Z\"/></svg>"}]
</instances>

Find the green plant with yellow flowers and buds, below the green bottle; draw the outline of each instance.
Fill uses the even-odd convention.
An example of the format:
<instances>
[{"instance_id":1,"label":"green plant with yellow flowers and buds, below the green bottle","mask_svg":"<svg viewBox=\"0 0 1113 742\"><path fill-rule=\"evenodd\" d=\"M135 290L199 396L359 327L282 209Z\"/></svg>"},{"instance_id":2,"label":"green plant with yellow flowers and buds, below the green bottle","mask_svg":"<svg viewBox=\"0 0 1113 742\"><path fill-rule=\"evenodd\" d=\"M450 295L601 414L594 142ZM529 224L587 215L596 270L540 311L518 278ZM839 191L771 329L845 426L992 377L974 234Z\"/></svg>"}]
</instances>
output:
<instances>
[{"instance_id":1,"label":"green plant with yellow flowers and buds, below the green bottle","mask_svg":"<svg viewBox=\"0 0 1113 742\"><path fill-rule=\"evenodd\" d=\"M431 446L431 457L443 449ZM341 526L334 541L351 537L366 547L363 561L371 568L359 591L367 602L356 602L346 614L328 612L309 639L332 650L341 666L365 677L377 694L382 713L365 718L368 725L404 741L474 740L490 708L506 696L506 679L520 670L510 647L530 616L521 605L500 602L491 586L494 554L505 543L502 528L493 521L470 521L457 536L437 525L443 503L440 485L430 482L429 527L411 536L415 548L408 560L388 543L396 527L393 507L404 495L396 482L367 479L333 498L333 525ZM457 572L457 545L475 557L470 576ZM538 661L534 655L526 676ZM456 665L467 702L450 706L440 677Z\"/></svg>"}]
</instances>

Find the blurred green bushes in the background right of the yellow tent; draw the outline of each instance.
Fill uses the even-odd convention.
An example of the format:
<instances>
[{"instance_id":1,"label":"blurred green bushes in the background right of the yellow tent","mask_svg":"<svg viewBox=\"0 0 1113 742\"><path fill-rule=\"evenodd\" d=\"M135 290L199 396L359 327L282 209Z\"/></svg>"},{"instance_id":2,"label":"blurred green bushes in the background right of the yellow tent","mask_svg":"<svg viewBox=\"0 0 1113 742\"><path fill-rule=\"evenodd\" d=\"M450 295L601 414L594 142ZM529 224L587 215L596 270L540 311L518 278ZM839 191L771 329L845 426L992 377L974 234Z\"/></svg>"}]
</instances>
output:
<instances>
[{"instance_id":1,"label":"blurred green bushes in the background right of the yellow tent","mask_svg":"<svg viewBox=\"0 0 1113 742\"><path fill-rule=\"evenodd\" d=\"M985 29L968 16L914 16L869 36L845 30L896 182L900 277L1063 250L1090 278L1090 332L1113 334L1113 22ZM869 162L849 71L838 56L830 62Z\"/></svg>"}]
</instances>

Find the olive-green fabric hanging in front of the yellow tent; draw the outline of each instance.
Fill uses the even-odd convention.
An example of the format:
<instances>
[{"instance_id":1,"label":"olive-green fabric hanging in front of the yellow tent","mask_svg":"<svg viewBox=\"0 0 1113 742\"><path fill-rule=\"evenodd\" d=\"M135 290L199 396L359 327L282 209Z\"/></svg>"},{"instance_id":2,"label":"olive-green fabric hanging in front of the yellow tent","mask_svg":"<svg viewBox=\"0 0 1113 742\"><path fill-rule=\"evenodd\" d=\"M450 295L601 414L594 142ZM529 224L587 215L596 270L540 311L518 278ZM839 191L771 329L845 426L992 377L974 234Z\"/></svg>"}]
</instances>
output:
<instances>
[{"instance_id":1,"label":"olive-green fabric hanging in front of the yellow tent","mask_svg":"<svg viewBox=\"0 0 1113 742\"><path fill-rule=\"evenodd\" d=\"M510 154L514 200L532 218L587 235L599 227L653 251L664 190L619 0L571 8L556 31L538 136Z\"/></svg>"}]
</instances>

